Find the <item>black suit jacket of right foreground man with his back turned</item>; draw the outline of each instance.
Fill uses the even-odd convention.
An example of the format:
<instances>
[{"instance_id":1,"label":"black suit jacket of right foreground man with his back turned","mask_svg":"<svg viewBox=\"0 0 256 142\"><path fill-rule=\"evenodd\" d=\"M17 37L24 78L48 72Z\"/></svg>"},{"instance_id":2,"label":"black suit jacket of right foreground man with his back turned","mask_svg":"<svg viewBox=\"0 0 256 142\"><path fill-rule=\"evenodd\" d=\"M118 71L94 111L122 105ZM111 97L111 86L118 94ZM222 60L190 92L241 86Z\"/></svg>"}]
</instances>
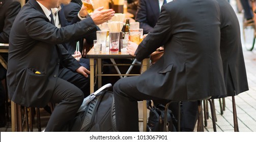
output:
<instances>
[{"instance_id":1,"label":"black suit jacket of right foreground man with his back turned","mask_svg":"<svg viewBox=\"0 0 256 142\"><path fill-rule=\"evenodd\" d=\"M164 45L163 56L138 77L137 89L170 100L225 97L220 55L220 9L215 0L179 0L162 6L139 44L141 61Z\"/></svg>"}]
</instances>

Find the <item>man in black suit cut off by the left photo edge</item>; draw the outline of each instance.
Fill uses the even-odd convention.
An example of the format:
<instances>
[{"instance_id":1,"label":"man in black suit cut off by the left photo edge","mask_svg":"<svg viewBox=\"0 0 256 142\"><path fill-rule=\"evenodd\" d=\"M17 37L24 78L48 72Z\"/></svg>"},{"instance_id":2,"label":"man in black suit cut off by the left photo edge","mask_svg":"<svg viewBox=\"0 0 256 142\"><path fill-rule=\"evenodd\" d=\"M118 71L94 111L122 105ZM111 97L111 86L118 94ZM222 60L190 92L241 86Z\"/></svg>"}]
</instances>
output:
<instances>
[{"instance_id":1,"label":"man in black suit cut off by the left photo edge","mask_svg":"<svg viewBox=\"0 0 256 142\"><path fill-rule=\"evenodd\" d=\"M19 1L0 0L0 43L9 43L11 27L20 8ZM0 53L0 55L7 61L7 53ZM4 127L6 124L5 90L1 82L5 78L6 69L0 64L0 127Z\"/></svg>"}]
</instances>

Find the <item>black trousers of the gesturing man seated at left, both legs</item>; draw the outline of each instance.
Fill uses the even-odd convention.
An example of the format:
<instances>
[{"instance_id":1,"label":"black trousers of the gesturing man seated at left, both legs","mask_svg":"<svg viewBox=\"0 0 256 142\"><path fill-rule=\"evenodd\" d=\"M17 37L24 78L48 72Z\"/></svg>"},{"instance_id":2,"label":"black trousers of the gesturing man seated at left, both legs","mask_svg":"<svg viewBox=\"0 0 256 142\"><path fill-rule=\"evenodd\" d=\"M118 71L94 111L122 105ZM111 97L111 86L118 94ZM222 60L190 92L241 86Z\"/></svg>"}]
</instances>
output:
<instances>
[{"instance_id":1,"label":"black trousers of the gesturing man seated at left, both legs","mask_svg":"<svg viewBox=\"0 0 256 142\"><path fill-rule=\"evenodd\" d=\"M86 78L68 68L60 68L58 77L50 100L57 105L45 131L63 131L75 117L83 98L90 94L90 77Z\"/></svg>"}]
</instances>

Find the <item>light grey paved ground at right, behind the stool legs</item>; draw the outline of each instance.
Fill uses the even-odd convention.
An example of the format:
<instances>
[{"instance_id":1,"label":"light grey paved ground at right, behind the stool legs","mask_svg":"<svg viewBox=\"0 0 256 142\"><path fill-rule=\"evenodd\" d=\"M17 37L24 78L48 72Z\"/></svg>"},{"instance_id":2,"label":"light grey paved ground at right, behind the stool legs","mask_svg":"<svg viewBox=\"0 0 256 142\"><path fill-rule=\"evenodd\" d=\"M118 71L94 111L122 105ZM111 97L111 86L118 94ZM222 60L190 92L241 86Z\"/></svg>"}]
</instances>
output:
<instances>
[{"instance_id":1,"label":"light grey paved ground at right, behind the stool legs","mask_svg":"<svg viewBox=\"0 0 256 142\"><path fill-rule=\"evenodd\" d=\"M235 0L231 1L232 6L236 9ZM240 26L242 27L243 14L237 14L240 20ZM241 28L242 29L242 28ZM242 30L241 30L242 31ZM241 33L242 35L242 33ZM243 39L242 39L243 42ZM247 70L247 78L249 84L249 91L243 92L235 97L239 131L241 132L255 132L256 131L256 49L253 51L244 50L245 65ZM226 108L223 115L220 115L219 101L215 100L216 116L217 116L217 131L218 132L230 132L234 131L233 124L233 110L232 110L232 98L225 98ZM141 107L140 107L141 108ZM42 110L42 126L45 127L49 115ZM211 116L207 121L208 126L205 127L205 131L213 131ZM0 128L0 131L11 131L10 122L6 127ZM35 129L37 131L37 129ZM195 128L196 131L196 128Z\"/></svg>"}]
</instances>

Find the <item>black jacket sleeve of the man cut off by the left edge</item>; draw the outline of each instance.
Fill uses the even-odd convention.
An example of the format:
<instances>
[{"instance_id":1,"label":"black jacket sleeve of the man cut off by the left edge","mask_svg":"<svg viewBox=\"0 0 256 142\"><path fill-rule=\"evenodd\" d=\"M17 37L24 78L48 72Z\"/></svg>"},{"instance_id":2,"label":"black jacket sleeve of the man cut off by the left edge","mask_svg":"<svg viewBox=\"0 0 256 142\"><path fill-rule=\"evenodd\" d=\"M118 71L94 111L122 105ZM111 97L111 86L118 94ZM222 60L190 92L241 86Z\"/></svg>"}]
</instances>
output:
<instances>
[{"instance_id":1,"label":"black jacket sleeve of the man cut off by the left edge","mask_svg":"<svg viewBox=\"0 0 256 142\"><path fill-rule=\"evenodd\" d=\"M9 2L5 2L5 3L7 4ZM4 19L5 24L4 24L3 32L0 33L0 43L9 43L9 35L10 35L13 21L21 8L20 3L17 1L10 4L10 6L7 5L5 7L8 7L8 10L5 13L6 19ZM5 9L5 8L1 8L1 9Z\"/></svg>"}]
</instances>

